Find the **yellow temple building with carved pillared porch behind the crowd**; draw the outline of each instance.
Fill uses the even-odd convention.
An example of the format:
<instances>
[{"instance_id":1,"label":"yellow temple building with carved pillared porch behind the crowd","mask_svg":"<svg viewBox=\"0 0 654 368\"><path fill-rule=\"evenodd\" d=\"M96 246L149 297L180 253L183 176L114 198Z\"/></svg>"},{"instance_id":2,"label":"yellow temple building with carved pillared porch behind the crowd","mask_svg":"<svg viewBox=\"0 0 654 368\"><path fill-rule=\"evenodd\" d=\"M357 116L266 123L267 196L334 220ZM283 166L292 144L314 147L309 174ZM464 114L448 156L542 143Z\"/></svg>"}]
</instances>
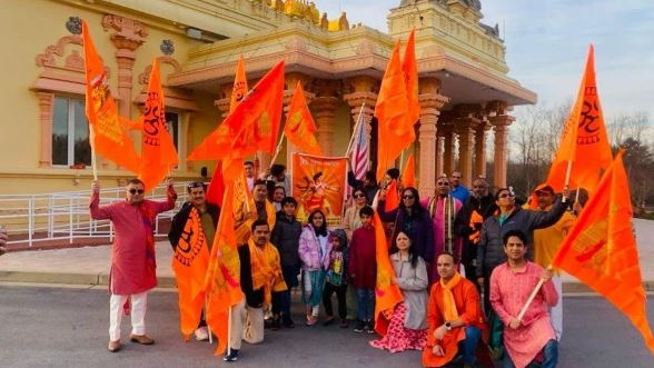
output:
<instances>
[{"instance_id":1,"label":"yellow temple building with carved pillared porch behind the crowd","mask_svg":"<svg viewBox=\"0 0 654 368\"><path fill-rule=\"evenodd\" d=\"M89 188L80 19L89 24L125 117L140 115L159 58L180 157L177 180L211 175L214 162L186 157L229 110L240 54L249 86L285 60L285 105L301 81L323 151L344 156L359 112L375 137L373 113L390 51L415 29L422 115L413 150L422 195L433 193L437 175L453 170L466 183L492 176L496 186L505 185L512 107L536 102L534 92L508 77L505 44L496 28L479 22L479 1L398 0L386 33L299 0L9 1L0 12L1 103L8 112L0 121L2 195ZM131 135L138 150L140 135ZM490 139L494 152L486 157ZM285 146L277 161L286 163L293 151ZM260 155L259 161L266 167L270 157ZM98 169L103 186L132 176L101 158Z\"/></svg>"}]
</instances>

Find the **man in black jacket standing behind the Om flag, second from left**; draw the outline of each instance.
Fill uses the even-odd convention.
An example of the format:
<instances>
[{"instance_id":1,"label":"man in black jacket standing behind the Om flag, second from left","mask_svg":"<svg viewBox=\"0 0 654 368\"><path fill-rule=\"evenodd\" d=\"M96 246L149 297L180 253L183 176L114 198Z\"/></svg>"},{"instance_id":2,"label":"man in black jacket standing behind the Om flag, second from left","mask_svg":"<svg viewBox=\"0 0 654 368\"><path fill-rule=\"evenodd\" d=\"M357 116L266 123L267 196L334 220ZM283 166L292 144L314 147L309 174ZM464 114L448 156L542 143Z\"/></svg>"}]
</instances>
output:
<instances>
[{"instance_id":1,"label":"man in black jacket standing behind the Om flag, second from left","mask_svg":"<svg viewBox=\"0 0 654 368\"><path fill-rule=\"evenodd\" d=\"M209 247L209 251L211 251L214 236L216 235L216 227L218 226L218 217L220 216L220 208L216 205L207 202L205 197L206 190L207 186L201 181L194 181L188 185L188 201L186 201L181 206L179 212L172 217L170 231L168 231L168 240L170 241L174 251L177 249L179 238L184 232L186 221L188 220L192 208L196 208L200 215L202 230L206 238L205 243ZM209 332L207 330L207 322L205 321L204 312L195 335L198 341L209 339Z\"/></svg>"}]
</instances>

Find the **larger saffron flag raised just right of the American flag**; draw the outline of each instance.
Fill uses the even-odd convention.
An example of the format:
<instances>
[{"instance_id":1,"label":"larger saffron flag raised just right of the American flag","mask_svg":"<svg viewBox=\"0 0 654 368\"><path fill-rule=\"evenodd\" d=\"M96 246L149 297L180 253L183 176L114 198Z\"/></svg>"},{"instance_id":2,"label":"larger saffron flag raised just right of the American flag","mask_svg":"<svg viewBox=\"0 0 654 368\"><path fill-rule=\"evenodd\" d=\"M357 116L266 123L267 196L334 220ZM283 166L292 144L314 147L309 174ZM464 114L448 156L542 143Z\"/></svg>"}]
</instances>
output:
<instances>
[{"instance_id":1,"label":"larger saffron flag raised just right of the American flag","mask_svg":"<svg viewBox=\"0 0 654 368\"><path fill-rule=\"evenodd\" d=\"M406 79L399 61L399 40L386 67L379 97L375 106L377 117L377 178L394 167L399 153L416 139L406 90Z\"/></svg>"}]
</instances>

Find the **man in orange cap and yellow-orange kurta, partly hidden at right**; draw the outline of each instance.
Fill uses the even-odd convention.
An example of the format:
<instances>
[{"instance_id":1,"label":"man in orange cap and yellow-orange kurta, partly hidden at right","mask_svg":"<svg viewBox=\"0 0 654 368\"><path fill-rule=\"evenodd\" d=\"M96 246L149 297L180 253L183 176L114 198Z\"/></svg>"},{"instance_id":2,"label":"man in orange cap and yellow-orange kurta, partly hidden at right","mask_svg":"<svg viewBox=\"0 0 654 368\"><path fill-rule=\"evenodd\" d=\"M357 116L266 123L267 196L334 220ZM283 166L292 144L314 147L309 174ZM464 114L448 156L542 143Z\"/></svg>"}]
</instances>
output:
<instances>
[{"instance_id":1,"label":"man in orange cap and yellow-orange kurta, partly hidden at right","mask_svg":"<svg viewBox=\"0 0 654 368\"><path fill-rule=\"evenodd\" d=\"M554 199L554 188L546 185L541 185L534 191L537 198L538 209L542 211L549 211ZM564 212L561 219L553 226L539 230L534 230L534 262L543 268L552 265L554 255L558 251L558 247L567 235L567 231L573 227L575 218L569 212ZM559 296L562 294L561 273L554 272L552 277L554 288ZM563 301L563 298L562 300ZM561 341L563 335L563 302L549 308L549 317L552 327L556 334L556 340Z\"/></svg>"}]
</instances>

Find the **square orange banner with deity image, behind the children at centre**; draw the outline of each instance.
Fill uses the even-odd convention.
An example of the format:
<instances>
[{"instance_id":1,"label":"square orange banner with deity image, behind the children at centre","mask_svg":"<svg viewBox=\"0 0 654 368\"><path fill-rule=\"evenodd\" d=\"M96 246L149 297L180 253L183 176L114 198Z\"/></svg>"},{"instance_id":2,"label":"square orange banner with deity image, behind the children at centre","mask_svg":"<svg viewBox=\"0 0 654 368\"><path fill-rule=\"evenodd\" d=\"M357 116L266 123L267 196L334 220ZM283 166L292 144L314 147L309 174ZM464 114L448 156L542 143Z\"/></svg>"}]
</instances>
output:
<instances>
[{"instance_id":1,"label":"square orange banner with deity image, behind the children at centre","mask_svg":"<svg viewBox=\"0 0 654 368\"><path fill-rule=\"evenodd\" d=\"M327 223L340 225L346 189L347 158L293 153L293 197L298 202L297 217L306 221L320 209Z\"/></svg>"}]
</instances>

